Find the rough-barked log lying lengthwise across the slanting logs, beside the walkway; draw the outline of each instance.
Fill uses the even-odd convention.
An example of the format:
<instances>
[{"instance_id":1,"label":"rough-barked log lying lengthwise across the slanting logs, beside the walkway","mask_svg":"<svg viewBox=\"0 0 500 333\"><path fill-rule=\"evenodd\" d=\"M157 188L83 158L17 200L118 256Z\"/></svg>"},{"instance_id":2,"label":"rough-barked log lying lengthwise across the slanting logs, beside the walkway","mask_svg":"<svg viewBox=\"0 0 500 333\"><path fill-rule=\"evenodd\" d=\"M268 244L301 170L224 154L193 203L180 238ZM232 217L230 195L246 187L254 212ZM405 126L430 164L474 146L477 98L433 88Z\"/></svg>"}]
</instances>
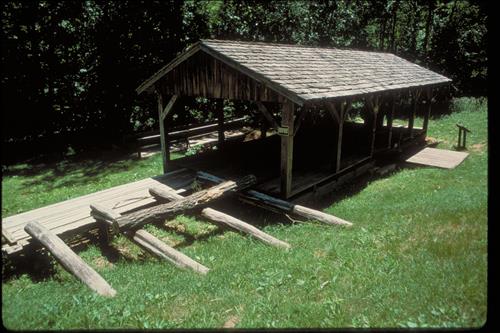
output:
<instances>
[{"instance_id":1,"label":"rough-barked log lying lengthwise across the slanting logs, beside the walkway","mask_svg":"<svg viewBox=\"0 0 500 333\"><path fill-rule=\"evenodd\" d=\"M144 224L155 222L158 220L166 219L169 216L180 213L189 209L196 208L202 204L211 202L229 191L241 190L255 184L256 178L253 175L248 175L238 181L226 181L211 187L193 193L182 199L165 203L162 205L154 206L151 208L144 208L126 216L120 216L114 220L116 227L120 231L127 231L137 229Z\"/></svg>"}]
</instances>

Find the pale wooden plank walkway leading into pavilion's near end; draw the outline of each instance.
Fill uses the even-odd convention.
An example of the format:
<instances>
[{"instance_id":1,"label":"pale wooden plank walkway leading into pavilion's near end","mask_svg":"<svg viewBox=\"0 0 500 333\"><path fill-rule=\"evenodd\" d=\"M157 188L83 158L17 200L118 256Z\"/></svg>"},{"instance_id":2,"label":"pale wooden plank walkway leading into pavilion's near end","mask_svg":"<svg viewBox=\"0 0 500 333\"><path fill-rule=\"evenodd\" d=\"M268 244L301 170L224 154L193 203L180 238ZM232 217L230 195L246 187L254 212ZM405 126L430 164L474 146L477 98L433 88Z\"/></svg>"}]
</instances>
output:
<instances>
[{"instance_id":1,"label":"pale wooden plank walkway leading into pavilion's near end","mask_svg":"<svg viewBox=\"0 0 500 333\"><path fill-rule=\"evenodd\" d=\"M31 242L24 226L37 221L63 240L97 227L90 215L90 204L97 203L123 214L156 202L148 193L150 187L173 188L177 193L185 192L195 174L187 169L178 169L161 176L112 187L103 191L34 209L2 219L2 252L8 255L22 251Z\"/></svg>"}]
</instances>

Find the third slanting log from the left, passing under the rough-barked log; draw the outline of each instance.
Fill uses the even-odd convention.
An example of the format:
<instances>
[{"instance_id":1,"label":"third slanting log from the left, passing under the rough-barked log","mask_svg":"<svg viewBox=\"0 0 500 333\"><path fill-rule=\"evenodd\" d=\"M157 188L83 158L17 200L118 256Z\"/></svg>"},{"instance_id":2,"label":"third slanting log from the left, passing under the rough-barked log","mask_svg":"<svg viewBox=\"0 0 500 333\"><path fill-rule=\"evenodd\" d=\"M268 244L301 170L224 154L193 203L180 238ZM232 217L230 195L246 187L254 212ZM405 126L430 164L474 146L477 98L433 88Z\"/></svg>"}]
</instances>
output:
<instances>
[{"instance_id":1,"label":"third slanting log from the left, passing under the rough-barked log","mask_svg":"<svg viewBox=\"0 0 500 333\"><path fill-rule=\"evenodd\" d=\"M172 191L166 191L163 189L157 189L157 188L150 188L149 193L155 197L156 199L167 199L167 200L179 200L182 199L183 196L175 193L173 190ZM281 247L288 249L290 248L290 244L280 241L279 239L274 238L273 236L266 234L265 232L257 229L256 227L252 226L251 224L248 224L246 222L243 222L235 217L232 217L231 215L219 212L215 209L212 208L204 208L201 211L201 215L211 221L217 222L217 223L223 223L231 228L234 228L236 230L239 230L243 233L249 234L258 240L272 245L276 247Z\"/></svg>"}]
</instances>

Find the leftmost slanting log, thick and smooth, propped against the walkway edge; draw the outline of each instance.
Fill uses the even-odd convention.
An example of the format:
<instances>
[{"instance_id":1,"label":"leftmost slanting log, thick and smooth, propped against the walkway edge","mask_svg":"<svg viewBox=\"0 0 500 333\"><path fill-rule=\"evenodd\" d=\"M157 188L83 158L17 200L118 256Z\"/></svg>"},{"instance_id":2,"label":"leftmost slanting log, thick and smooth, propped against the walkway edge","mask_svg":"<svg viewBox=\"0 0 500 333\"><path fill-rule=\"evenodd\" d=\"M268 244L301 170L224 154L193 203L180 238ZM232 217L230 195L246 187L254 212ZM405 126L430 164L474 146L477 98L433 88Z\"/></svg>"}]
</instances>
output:
<instances>
[{"instance_id":1,"label":"leftmost slanting log, thick and smooth, propped against the walkway edge","mask_svg":"<svg viewBox=\"0 0 500 333\"><path fill-rule=\"evenodd\" d=\"M102 296L113 297L116 291L82 258L73 252L61 238L40 223L33 221L26 224L24 230L33 239L38 240L71 274L85 283L90 289Z\"/></svg>"}]
</instances>

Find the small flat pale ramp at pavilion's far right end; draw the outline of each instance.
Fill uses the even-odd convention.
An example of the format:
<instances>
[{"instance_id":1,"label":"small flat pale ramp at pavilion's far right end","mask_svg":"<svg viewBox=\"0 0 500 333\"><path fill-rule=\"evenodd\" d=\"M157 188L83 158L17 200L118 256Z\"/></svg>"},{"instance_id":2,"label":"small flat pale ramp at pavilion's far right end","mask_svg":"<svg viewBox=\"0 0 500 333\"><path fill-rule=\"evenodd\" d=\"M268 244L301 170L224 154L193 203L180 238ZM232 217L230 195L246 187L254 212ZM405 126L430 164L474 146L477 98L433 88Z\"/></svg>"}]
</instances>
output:
<instances>
[{"instance_id":1,"label":"small flat pale ramp at pavilion's far right end","mask_svg":"<svg viewBox=\"0 0 500 333\"><path fill-rule=\"evenodd\" d=\"M406 159L406 162L453 169L469 156L469 153L436 148L424 148Z\"/></svg>"}]
</instances>

